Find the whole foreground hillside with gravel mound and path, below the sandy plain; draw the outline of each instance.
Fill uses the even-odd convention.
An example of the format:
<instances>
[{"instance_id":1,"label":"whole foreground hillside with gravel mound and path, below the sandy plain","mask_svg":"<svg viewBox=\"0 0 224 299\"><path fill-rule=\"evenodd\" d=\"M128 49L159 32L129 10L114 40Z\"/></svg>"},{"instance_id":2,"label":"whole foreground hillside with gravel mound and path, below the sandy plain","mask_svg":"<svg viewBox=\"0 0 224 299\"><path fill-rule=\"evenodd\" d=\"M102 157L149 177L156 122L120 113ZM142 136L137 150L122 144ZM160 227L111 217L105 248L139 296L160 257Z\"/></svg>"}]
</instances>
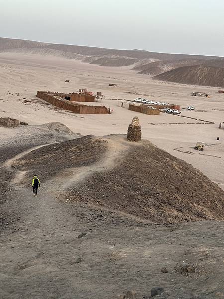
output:
<instances>
[{"instance_id":1,"label":"whole foreground hillside with gravel mound and path, below the sandy plain","mask_svg":"<svg viewBox=\"0 0 224 299\"><path fill-rule=\"evenodd\" d=\"M80 138L60 123L5 129L0 298L222 298L218 185L148 141Z\"/></svg>"}]
</instances>

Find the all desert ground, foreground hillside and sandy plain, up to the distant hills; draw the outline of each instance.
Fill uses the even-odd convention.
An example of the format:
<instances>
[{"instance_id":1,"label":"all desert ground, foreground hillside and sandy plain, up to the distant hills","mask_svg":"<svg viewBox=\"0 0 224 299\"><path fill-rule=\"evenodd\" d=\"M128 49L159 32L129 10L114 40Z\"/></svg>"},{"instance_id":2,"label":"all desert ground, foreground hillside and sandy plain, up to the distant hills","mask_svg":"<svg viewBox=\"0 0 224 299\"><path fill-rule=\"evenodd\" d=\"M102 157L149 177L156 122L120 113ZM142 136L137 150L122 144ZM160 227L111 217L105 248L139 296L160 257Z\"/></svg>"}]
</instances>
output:
<instances>
[{"instance_id":1,"label":"all desert ground, foreground hillside and sandy plain, up to the distant hills","mask_svg":"<svg viewBox=\"0 0 224 299\"><path fill-rule=\"evenodd\" d=\"M113 113L74 114L35 96L79 88L101 91L94 105ZM128 111L141 94L214 124ZM146 140L136 144L124 135L134 116ZM224 95L216 88L156 82L131 66L5 52L0 117L29 124L0 127L0 298L127 299L135 290L132 298L149 299L154 287L164 289L161 299L223 298Z\"/></svg>"}]
</instances>

